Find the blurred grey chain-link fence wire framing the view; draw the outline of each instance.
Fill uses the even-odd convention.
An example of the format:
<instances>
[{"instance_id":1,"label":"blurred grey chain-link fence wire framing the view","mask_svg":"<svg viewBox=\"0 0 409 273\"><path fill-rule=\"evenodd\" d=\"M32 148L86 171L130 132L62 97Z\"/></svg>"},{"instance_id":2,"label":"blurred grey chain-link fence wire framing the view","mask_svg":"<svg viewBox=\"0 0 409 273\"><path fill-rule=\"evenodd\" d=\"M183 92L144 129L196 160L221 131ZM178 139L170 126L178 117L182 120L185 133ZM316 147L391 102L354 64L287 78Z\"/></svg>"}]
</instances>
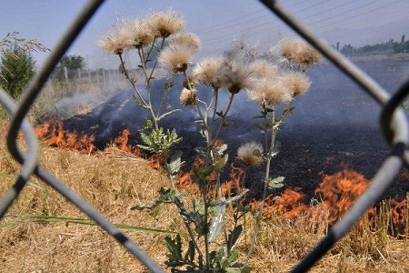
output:
<instances>
[{"instance_id":1,"label":"blurred grey chain-link fence wire framing the view","mask_svg":"<svg viewBox=\"0 0 409 273\"><path fill-rule=\"evenodd\" d=\"M301 260L292 270L292 272L305 272L313 267L314 263L324 256L325 252L334 246L334 243L343 238L354 223L364 214L364 211L372 206L382 197L384 191L392 183L394 177L402 167L407 167L409 162L409 153L407 151L409 135L408 125L404 111L398 106L404 102L404 98L409 94L409 80L406 81L395 93L390 96L374 79L364 74L357 66L354 66L347 58L342 56L333 47L326 45L311 31L309 31L300 21L279 5L274 0L259 0L264 6L281 18L285 24L291 26L296 33L301 35L308 43L321 52L329 61L341 69L346 76L349 76L354 82L374 98L376 102L382 105L383 111L380 118L381 128L386 141L390 144L391 154L384 159L384 163L378 169L371 185L364 194L354 203L354 206L328 231L315 248L306 257ZM11 125L7 135L7 147L13 157L22 165L20 174L16 178L13 187L10 187L5 196L0 199L0 219L5 216L5 212L18 197L21 190L27 184L30 176L33 174L40 177L54 187L61 195L71 201L76 207L80 208L85 214L95 220L95 222L105 231L115 238L124 248L139 259L146 268L152 272L164 272L152 258L135 245L133 241L125 236L117 227L110 223L94 207L91 207L84 199L79 197L74 191L66 187L58 178L52 176L37 162L39 147L35 130L25 117L31 106L35 102L36 96L42 88L60 58L65 55L66 50L73 44L75 38L85 27L87 22L95 15L96 10L101 6L104 0L87 1L82 12L77 15L72 25L68 27L65 35L56 45L55 50L48 56L44 66L32 80L24 96L18 105L8 96L4 90L0 89L0 104L12 116ZM27 151L25 154L17 147L16 139L18 132L21 131L25 136Z\"/></svg>"}]
</instances>

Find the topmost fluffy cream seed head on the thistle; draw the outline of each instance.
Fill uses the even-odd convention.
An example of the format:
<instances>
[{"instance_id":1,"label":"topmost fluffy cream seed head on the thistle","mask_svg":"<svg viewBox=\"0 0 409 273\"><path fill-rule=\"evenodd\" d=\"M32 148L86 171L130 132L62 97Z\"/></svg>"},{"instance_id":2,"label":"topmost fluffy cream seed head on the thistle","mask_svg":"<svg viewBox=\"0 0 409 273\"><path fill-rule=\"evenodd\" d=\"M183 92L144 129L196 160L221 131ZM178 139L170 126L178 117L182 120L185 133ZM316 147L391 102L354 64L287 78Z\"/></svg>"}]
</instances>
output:
<instances>
[{"instance_id":1,"label":"topmost fluffy cream seed head on the thistle","mask_svg":"<svg viewBox=\"0 0 409 273\"><path fill-rule=\"evenodd\" d=\"M151 27L156 37L166 38L185 28L185 18L174 10L158 11L146 17L146 23Z\"/></svg>"}]
</instances>

